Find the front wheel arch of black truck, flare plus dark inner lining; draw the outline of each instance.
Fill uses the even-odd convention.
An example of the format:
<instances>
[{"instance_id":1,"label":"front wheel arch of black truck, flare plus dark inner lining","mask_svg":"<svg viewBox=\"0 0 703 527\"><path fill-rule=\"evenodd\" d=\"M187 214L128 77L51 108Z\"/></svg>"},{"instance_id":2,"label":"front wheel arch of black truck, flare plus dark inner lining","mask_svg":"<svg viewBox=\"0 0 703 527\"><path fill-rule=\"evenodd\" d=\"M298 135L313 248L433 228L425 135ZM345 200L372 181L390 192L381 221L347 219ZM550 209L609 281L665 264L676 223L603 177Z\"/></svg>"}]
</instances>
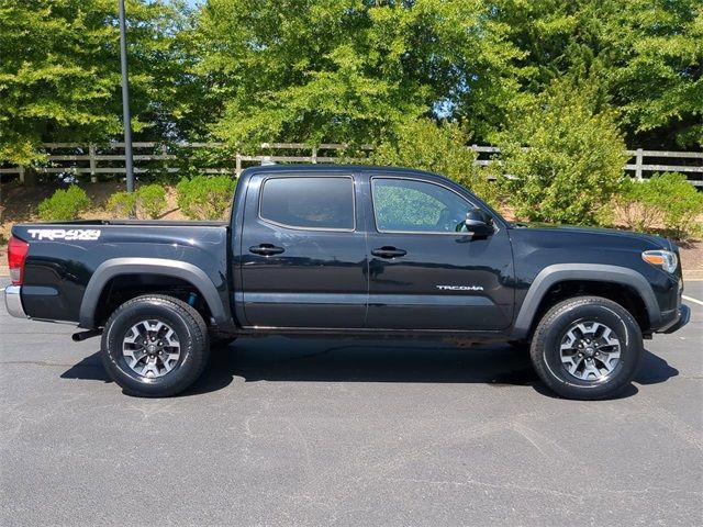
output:
<instances>
[{"instance_id":1,"label":"front wheel arch of black truck, flare plus dark inner lining","mask_svg":"<svg viewBox=\"0 0 703 527\"><path fill-rule=\"evenodd\" d=\"M600 264L556 264L543 269L527 290L525 300L515 317L513 326L515 337L525 338L529 336L538 322L540 309L544 311L544 303L548 299L549 292L555 287L567 283L585 285L588 294L598 294L592 288L605 285L606 289L603 290L604 294L602 295L611 300L616 300L617 291L615 289L609 290L609 288L615 285L622 288L621 291L628 291L635 298L631 299L632 304L629 307L627 305L624 305L624 307L631 312L633 306L644 310L644 314L638 318L640 326L652 327L661 317L655 293L645 277L639 272L625 267ZM637 318L636 313L633 313L633 315ZM646 329L646 327L643 327L643 329Z\"/></svg>"}]
</instances>

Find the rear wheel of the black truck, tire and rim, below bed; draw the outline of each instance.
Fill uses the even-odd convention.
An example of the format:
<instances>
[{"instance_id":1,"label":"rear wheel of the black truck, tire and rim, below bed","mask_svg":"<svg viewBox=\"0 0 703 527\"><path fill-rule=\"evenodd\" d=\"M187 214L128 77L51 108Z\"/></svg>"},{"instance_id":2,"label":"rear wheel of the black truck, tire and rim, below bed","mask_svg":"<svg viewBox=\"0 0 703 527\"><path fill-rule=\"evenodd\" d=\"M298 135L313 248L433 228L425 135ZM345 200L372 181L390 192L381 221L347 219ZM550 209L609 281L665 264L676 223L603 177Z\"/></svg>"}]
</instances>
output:
<instances>
[{"instance_id":1,"label":"rear wheel of the black truck, tire and rim, below bed","mask_svg":"<svg viewBox=\"0 0 703 527\"><path fill-rule=\"evenodd\" d=\"M210 354L208 327L192 306L149 294L132 299L108 319L102 362L129 395L167 397L190 386Z\"/></svg>"}]
</instances>

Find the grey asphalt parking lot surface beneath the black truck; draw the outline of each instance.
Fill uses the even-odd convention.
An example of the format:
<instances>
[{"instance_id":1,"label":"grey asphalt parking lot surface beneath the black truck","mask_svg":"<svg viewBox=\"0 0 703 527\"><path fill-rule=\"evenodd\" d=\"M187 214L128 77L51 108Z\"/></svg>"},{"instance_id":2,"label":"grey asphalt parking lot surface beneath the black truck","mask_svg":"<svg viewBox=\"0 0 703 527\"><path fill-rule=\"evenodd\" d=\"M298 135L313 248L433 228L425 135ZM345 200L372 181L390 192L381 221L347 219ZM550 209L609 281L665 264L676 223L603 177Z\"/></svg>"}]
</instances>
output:
<instances>
[{"instance_id":1,"label":"grey asphalt parking lot surface beneath the black truck","mask_svg":"<svg viewBox=\"0 0 703 527\"><path fill-rule=\"evenodd\" d=\"M703 300L703 282L687 284ZM243 339L168 400L0 301L1 525L700 525L703 305L616 401L524 352Z\"/></svg>"}]
</instances>

